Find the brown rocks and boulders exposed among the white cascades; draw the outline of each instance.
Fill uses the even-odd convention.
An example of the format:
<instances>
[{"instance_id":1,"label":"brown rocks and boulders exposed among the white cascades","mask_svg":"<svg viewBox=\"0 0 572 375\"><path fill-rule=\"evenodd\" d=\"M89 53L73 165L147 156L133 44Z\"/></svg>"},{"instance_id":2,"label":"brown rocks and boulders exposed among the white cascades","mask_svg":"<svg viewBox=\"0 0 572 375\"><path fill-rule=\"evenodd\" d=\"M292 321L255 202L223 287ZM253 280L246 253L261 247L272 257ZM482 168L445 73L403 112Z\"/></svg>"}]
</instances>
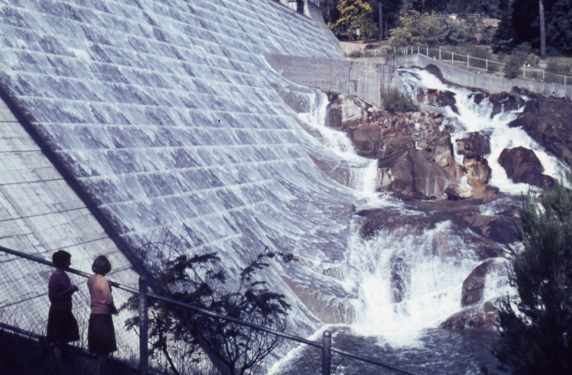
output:
<instances>
[{"instance_id":1,"label":"brown rocks and boulders exposed among the white cascades","mask_svg":"<svg viewBox=\"0 0 572 375\"><path fill-rule=\"evenodd\" d=\"M509 126L523 128L544 149L572 165L571 101L518 88L500 94L472 91L469 99L473 103L479 105L487 99L492 104L491 118L523 108ZM441 109L449 107L458 113L457 99L446 90L419 90L416 99L424 109L411 113L389 113L348 94L326 94L327 126L347 133L359 155L378 160L375 189L398 197L408 210L408 215L402 215L402 208L359 210L361 237L404 228L415 235L439 222L451 222L455 233L477 244L477 258L482 263L463 283L461 311L446 319L441 328L493 327L499 300L486 300L484 283L493 273L506 280L509 270L502 253L517 241L515 224L521 201L490 183L491 133L468 132L453 139L457 124ZM431 110L425 109L429 106ZM532 149L503 149L498 163L514 183L540 188L554 183L555 176L544 174ZM448 251L439 256L455 258L456 250ZM393 264L393 301L398 303L403 298L403 273L398 259Z\"/></svg>"}]
</instances>

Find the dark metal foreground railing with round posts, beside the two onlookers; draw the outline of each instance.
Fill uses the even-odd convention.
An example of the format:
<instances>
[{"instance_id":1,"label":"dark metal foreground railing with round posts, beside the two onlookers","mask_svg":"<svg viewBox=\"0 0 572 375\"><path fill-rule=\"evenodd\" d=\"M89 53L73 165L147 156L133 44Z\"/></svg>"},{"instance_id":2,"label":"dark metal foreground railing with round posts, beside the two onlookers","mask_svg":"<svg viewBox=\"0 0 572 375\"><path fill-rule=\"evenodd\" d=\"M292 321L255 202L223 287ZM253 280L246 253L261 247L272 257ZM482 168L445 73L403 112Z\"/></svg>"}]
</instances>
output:
<instances>
[{"instance_id":1,"label":"dark metal foreground railing with round posts, beside the two onlookers","mask_svg":"<svg viewBox=\"0 0 572 375\"><path fill-rule=\"evenodd\" d=\"M22 253L20 251L15 251L12 249L8 249L6 247L0 247L0 253L4 253L4 254L10 254L11 256L13 256L13 258L11 260L30 260L32 262L35 262L37 265L42 265L42 266L47 266L47 267L55 267L53 263L47 261L47 260L43 260L41 258L35 257L35 256L30 256L26 253ZM4 263L3 265L3 276L10 278L10 273L6 272L6 263L11 261L10 259L6 259L4 257L0 258L0 263ZM26 267L26 269L30 269L30 267ZM18 272L22 272L22 265L19 265L19 267L17 267L17 271ZM86 274L85 272L81 272L79 270L76 269L69 269L67 270L68 273L70 274L74 274L77 276L81 276L83 278L88 278L90 275ZM49 271L47 271L47 269L44 269L42 272L38 272L40 274L44 274L44 277L47 275L49 276ZM1 282L1 279L0 279ZM343 357L347 357L347 358L353 358L355 360L359 360L365 363L370 363L372 365L376 365L379 367L384 367L386 369L391 369L395 372L399 372L401 374L411 374L411 375L415 375L418 374L416 372L411 372L407 369L402 369L400 367L397 366L393 366L390 365L389 363L385 363L382 362L380 360L377 360L375 358L369 358L366 356L359 356L357 354L354 353L350 353L348 351L343 351L341 349L336 349L332 347L332 333L330 331L325 331L322 334L322 342L315 342L312 340L307 340L305 338L301 338L299 336L296 335L289 335L288 333L284 333L284 332L280 332L280 331L275 331L273 329L270 328L266 328L263 326L259 326L257 324L253 324L250 322L245 322L243 320L240 319L236 319L234 317L229 317L227 315L220 315L218 313L214 313L213 311L210 310L206 310L204 308L200 308L198 306L193 306L193 305L189 305L187 303L181 303L180 301L176 301L174 299L170 299L167 297L163 297L159 294L154 294L152 292L149 292L149 285L148 285L148 281L147 278L145 276L140 276L139 278L139 288L135 289L135 288L130 288L126 285L121 285L120 283L115 283L113 281L110 281L111 285L113 286L113 288L115 288L116 290L122 290L123 292L126 292L128 294L130 294L131 296L133 296L133 294L138 294L139 297L139 334L138 334L138 352L139 352L139 369L140 369L140 373L143 375L147 375L149 374L149 372L152 372L152 368L154 366L149 364L149 338L148 338L148 331L149 331L149 327L148 327L148 307L149 306L149 299L156 299L158 301L162 301L164 303L168 303L172 306L179 306L179 307L183 307L183 308L188 308L189 310L193 310L196 311L197 313L201 313L204 315L208 315L209 317L215 317L218 319L224 319L227 320L229 322L234 322L236 324L240 324L243 326L247 326L249 328L252 328L254 330L257 331L263 331L265 333L269 333L271 335L276 335L280 338L285 338L287 340L291 340L293 342L299 342L302 344L306 344L310 347L316 347L318 349L321 349L322 351L322 375L331 375L332 374L332 353L338 353L339 355L343 356ZM44 284L47 285L47 279L44 280ZM114 296L115 296L115 292L114 292ZM47 300L47 295L45 292L37 292L36 295L32 298L27 299L27 301L33 299L33 298L37 298L37 297L45 297L44 299ZM115 297L114 297L115 298ZM20 303L22 301L13 301L13 303L0 303L0 319L3 319L3 308L6 308L7 306L13 306L17 303ZM47 315L47 314L46 314ZM76 311L74 311L74 315L76 315ZM78 317L79 315L76 315L76 317ZM79 324L82 324L82 322L80 322L80 319L78 319ZM45 322L44 322L45 323ZM87 324L87 320L85 320L85 322L83 322L83 325L85 326L85 324ZM4 328L4 329L9 329L10 326L14 326L14 325L9 325L6 324L5 322L0 322L0 328ZM42 328L38 328L39 326L41 326ZM20 330L22 332L29 332L29 335L32 338L39 338L40 336L42 336L39 332L43 332L43 327L45 326L45 324L32 324L32 327L27 327L27 328L22 328L22 327L17 327L18 330ZM85 344L83 344L83 347L80 343L80 349L83 349L85 351L85 347L87 347ZM118 345L119 347L119 345ZM132 359L132 358L131 358Z\"/></svg>"}]
</instances>

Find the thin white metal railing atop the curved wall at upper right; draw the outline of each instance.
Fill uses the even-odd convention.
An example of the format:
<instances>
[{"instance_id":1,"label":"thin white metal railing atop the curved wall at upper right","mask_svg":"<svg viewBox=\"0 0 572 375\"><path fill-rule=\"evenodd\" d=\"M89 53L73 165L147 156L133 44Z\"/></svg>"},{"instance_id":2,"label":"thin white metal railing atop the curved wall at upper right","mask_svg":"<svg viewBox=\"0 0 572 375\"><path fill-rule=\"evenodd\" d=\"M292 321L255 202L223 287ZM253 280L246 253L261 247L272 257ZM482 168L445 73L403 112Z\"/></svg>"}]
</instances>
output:
<instances>
[{"instance_id":1,"label":"thin white metal railing atop the curved wall at upper right","mask_svg":"<svg viewBox=\"0 0 572 375\"><path fill-rule=\"evenodd\" d=\"M393 50L394 53L402 55L410 55L418 53L434 60L439 60L441 63L450 63L455 67L464 69L477 69L484 72L504 72L505 63L492 60L489 58L477 58L471 55L464 55L462 53L455 53L455 51L445 51L443 49L435 49L430 47L401 47ZM569 85L572 82L570 76L565 74L555 74L546 72L544 69L532 68L523 65L519 68L521 71L521 78L530 79L533 81L541 81L546 83L556 83L557 85Z\"/></svg>"}]
</instances>

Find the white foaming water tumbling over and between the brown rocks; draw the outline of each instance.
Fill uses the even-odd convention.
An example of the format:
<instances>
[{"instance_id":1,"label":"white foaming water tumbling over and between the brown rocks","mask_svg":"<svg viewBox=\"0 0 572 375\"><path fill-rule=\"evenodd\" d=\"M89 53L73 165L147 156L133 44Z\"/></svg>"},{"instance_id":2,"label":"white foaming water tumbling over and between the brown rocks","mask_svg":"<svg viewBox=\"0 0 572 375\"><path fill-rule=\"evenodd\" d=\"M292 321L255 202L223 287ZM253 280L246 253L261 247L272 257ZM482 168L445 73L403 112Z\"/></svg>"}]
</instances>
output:
<instances>
[{"instance_id":1,"label":"white foaming water tumbling over and between the brown rocks","mask_svg":"<svg viewBox=\"0 0 572 375\"><path fill-rule=\"evenodd\" d=\"M525 131L508 126L523 108L491 116L493 103L486 97L479 104L475 103L474 91L445 85L424 70L402 69L400 75L411 97L428 89L455 94L457 113L450 107L444 111L448 123L454 126L451 138L457 163L462 165L462 156L457 154L455 140L467 137L471 132L490 135L491 153L485 156L492 169L490 184L509 194L505 200L514 203L518 195L538 188L507 178L498 163L502 149L522 146L534 150L545 173L550 176L557 176L567 169ZM365 198L358 208L375 207L388 212L392 210L401 217L423 217L421 213L404 210L398 199L375 192L377 160L357 156L345 133L325 126L325 94L317 93L309 100L309 110L299 113L299 117L320 134L322 144L353 166L352 183L348 187L359 199ZM436 110L442 112L443 108ZM495 215L497 206L502 206L502 199L484 204L480 210L483 215ZM373 238L363 238L359 234L359 221L358 218L354 220L349 242L348 263L352 271L348 282L357 285L360 300L355 306L356 322L350 328L354 335L375 337L393 348L416 347L423 332L438 328L462 309L463 281L482 263L482 258L477 256L479 245L466 241L466 233L453 228L450 221L416 225L406 220L402 225L380 230ZM502 264L505 260L495 262ZM506 272L487 274L483 301L496 301L510 293L513 291Z\"/></svg>"}]
</instances>

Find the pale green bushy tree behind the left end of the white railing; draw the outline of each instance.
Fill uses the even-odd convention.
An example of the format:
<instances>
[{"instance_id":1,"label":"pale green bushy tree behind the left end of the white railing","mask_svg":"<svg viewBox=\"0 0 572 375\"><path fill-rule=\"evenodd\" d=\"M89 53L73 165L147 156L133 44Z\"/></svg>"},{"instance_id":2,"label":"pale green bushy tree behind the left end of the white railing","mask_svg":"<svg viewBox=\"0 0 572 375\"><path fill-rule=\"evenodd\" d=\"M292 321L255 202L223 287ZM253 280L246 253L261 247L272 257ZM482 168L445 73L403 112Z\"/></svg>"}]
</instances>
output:
<instances>
[{"instance_id":1,"label":"pale green bushy tree behind the left end of the white railing","mask_svg":"<svg viewBox=\"0 0 572 375\"><path fill-rule=\"evenodd\" d=\"M399 19L402 26L391 30L394 47L434 46L447 40L445 22L429 13L402 10Z\"/></svg>"}]
</instances>

